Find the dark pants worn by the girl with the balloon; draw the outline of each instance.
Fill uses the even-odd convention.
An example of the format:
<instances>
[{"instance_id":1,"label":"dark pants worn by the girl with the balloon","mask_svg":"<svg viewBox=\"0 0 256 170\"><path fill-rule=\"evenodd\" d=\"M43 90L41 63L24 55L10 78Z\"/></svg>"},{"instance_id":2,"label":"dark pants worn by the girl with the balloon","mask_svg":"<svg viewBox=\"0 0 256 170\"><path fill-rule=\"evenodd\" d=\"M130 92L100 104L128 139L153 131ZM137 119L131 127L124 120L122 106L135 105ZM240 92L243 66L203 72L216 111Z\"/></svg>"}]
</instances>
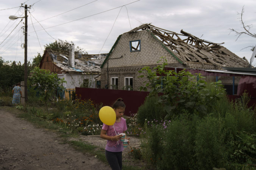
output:
<instances>
[{"instance_id":1,"label":"dark pants worn by the girl with the balloon","mask_svg":"<svg viewBox=\"0 0 256 170\"><path fill-rule=\"evenodd\" d=\"M106 150L105 155L112 170L122 169L122 152L109 152Z\"/></svg>"}]
</instances>

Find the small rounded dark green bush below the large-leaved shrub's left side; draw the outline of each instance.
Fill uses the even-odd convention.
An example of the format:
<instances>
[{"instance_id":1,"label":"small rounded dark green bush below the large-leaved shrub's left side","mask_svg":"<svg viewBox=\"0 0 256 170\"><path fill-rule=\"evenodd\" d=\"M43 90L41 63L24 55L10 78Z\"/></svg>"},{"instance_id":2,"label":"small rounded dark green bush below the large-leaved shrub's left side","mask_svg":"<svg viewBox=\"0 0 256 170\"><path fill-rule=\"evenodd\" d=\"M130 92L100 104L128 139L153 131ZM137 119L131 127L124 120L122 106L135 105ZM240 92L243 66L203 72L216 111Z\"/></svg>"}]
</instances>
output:
<instances>
[{"instance_id":1,"label":"small rounded dark green bush below the large-leaved shrub's left side","mask_svg":"<svg viewBox=\"0 0 256 170\"><path fill-rule=\"evenodd\" d=\"M155 96L149 96L145 99L144 104L142 104L137 113L137 123L143 125L145 120L163 120L167 114L163 107L157 103L158 98Z\"/></svg>"}]
</instances>

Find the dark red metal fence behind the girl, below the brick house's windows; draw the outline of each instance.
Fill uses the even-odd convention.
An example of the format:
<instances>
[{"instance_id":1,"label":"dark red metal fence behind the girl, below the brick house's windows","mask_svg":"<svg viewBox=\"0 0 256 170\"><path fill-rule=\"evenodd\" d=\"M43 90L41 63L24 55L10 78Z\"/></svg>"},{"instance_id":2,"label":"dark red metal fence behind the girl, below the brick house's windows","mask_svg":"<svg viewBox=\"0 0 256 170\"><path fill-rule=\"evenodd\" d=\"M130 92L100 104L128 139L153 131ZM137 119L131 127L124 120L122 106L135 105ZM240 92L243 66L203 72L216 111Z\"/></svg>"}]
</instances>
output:
<instances>
[{"instance_id":1,"label":"dark red metal fence behind the girl, below the brick house's windows","mask_svg":"<svg viewBox=\"0 0 256 170\"><path fill-rule=\"evenodd\" d=\"M118 98L122 98L126 108L125 115L130 116L137 113L139 107L144 103L145 97L149 92L111 90L111 89L92 89L76 87L76 95L82 100L91 99L95 103L103 103L103 106L111 106Z\"/></svg>"}]
</instances>

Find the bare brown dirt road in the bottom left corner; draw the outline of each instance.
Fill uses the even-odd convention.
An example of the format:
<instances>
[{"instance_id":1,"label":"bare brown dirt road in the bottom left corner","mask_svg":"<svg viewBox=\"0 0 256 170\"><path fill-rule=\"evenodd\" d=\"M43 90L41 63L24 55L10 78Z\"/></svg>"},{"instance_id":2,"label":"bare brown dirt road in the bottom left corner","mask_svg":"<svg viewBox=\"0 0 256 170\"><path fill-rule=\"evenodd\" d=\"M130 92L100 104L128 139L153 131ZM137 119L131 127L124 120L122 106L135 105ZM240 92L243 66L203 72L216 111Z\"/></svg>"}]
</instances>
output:
<instances>
[{"instance_id":1,"label":"bare brown dirt road in the bottom left corner","mask_svg":"<svg viewBox=\"0 0 256 170\"><path fill-rule=\"evenodd\" d=\"M55 133L36 129L0 107L0 169L109 170L94 155L60 144Z\"/></svg>"}]
</instances>

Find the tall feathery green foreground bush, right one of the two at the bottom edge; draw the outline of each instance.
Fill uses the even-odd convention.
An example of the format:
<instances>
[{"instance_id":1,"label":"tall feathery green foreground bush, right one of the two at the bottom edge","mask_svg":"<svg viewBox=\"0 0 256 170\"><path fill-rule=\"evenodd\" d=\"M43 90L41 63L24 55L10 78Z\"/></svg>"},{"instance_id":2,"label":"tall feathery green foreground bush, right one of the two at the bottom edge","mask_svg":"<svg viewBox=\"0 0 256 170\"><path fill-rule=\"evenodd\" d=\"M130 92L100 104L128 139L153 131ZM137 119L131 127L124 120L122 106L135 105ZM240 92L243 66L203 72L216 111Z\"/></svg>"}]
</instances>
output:
<instances>
[{"instance_id":1,"label":"tall feathery green foreground bush, right one of the two at the bottom edge","mask_svg":"<svg viewBox=\"0 0 256 170\"><path fill-rule=\"evenodd\" d=\"M221 118L206 116L198 122L195 135L195 158L198 169L223 167L228 162L228 131Z\"/></svg>"}]
</instances>

